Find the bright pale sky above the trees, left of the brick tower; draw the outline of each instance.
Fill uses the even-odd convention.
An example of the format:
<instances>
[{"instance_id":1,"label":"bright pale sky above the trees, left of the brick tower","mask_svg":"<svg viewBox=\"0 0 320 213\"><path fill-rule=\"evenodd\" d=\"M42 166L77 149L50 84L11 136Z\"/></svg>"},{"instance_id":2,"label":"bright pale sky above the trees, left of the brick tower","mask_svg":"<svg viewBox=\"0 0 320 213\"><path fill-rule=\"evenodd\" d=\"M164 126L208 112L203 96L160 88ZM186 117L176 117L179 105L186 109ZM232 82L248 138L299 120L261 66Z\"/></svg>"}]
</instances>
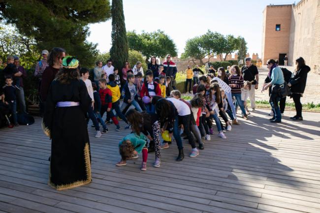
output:
<instances>
[{"instance_id":1,"label":"bright pale sky above the trees, left of the brick tower","mask_svg":"<svg viewBox=\"0 0 320 213\"><path fill-rule=\"evenodd\" d=\"M110 0L111 1L111 0ZM298 2L298 1L297 1ZM269 4L289 0L123 0L127 30L163 30L183 53L186 41L208 29L243 36L248 52L261 56L262 11ZM111 20L90 26L88 40L100 52L111 47Z\"/></svg>"}]
</instances>

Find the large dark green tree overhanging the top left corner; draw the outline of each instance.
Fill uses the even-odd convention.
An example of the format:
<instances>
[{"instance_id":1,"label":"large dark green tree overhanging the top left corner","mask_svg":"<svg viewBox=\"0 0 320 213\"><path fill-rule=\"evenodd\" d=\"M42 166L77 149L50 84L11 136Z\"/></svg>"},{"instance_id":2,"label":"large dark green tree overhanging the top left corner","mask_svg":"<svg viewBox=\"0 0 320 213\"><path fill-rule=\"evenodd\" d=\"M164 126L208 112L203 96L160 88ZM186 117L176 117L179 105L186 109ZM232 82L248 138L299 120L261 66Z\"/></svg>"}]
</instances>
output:
<instances>
[{"instance_id":1,"label":"large dark green tree overhanging the top left corner","mask_svg":"<svg viewBox=\"0 0 320 213\"><path fill-rule=\"evenodd\" d=\"M98 52L96 44L86 40L88 24L109 19L110 4L109 0L2 0L0 16L34 38L38 51L63 47L83 66L90 66Z\"/></svg>"}]
</instances>

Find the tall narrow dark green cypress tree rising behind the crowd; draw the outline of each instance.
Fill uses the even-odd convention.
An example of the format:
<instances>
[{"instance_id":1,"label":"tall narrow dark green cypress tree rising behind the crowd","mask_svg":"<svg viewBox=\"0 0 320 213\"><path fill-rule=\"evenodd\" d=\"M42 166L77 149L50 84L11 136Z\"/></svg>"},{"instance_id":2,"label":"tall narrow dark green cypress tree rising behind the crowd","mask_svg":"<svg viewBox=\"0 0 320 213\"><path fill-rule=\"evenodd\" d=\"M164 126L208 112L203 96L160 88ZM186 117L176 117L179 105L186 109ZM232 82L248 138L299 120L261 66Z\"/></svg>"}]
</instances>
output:
<instances>
[{"instance_id":1,"label":"tall narrow dark green cypress tree rising behind the crowd","mask_svg":"<svg viewBox=\"0 0 320 213\"><path fill-rule=\"evenodd\" d=\"M113 66L119 69L119 75L122 75L123 63L128 60L128 38L125 24L125 15L122 0L112 0L112 47L110 57Z\"/></svg>"}]
</instances>

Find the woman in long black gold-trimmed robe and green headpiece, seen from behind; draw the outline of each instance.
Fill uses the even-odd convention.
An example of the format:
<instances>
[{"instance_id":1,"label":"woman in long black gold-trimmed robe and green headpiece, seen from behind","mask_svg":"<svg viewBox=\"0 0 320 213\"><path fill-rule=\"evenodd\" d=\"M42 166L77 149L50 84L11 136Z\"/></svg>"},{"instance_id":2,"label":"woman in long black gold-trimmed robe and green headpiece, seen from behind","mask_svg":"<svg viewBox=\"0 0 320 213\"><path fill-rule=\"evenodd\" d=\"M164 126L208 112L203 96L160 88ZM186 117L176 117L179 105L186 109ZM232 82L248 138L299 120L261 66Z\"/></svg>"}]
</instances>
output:
<instances>
[{"instance_id":1,"label":"woman in long black gold-trimmed robe and green headpiece, seen from behind","mask_svg":"<svg viewBox=\"0 0 320 213\"><path fill-rule=\"evenodd\" d=\"M52 139L49 185L57 190L91 182L90 142L86 113L91 104L85 83L79 80L79 61L67 56L52 82L42 127Z\"/></svg>"}]
</instances>

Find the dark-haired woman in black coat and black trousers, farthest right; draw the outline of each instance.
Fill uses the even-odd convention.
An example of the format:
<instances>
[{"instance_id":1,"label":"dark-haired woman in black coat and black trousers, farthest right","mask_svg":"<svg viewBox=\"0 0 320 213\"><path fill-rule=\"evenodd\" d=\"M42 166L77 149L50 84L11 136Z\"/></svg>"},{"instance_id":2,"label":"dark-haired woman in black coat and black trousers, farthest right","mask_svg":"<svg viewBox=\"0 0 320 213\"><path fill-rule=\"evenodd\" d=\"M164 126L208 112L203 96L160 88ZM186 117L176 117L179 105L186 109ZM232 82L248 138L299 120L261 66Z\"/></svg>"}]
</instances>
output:
<instances>
[{"instance_id":1,"label":"dark-haired woman in black coat and black trousers, farthest right","mask_svg":"<svg viewBox=\"0 0 320 213\"><path fill-rule=\"evenodd\" d=\"M302 97L304 89L306 88L307 75L310 71L310 67L306 65L302 57L299 57L297 60L295 60L295 64L297 67L291 75L288 86L292 92L291 96L294 101L296 115L290 119L293 121L302 121L302 104L300 102L300 98Z\"/></svg>"}]
</instances>

